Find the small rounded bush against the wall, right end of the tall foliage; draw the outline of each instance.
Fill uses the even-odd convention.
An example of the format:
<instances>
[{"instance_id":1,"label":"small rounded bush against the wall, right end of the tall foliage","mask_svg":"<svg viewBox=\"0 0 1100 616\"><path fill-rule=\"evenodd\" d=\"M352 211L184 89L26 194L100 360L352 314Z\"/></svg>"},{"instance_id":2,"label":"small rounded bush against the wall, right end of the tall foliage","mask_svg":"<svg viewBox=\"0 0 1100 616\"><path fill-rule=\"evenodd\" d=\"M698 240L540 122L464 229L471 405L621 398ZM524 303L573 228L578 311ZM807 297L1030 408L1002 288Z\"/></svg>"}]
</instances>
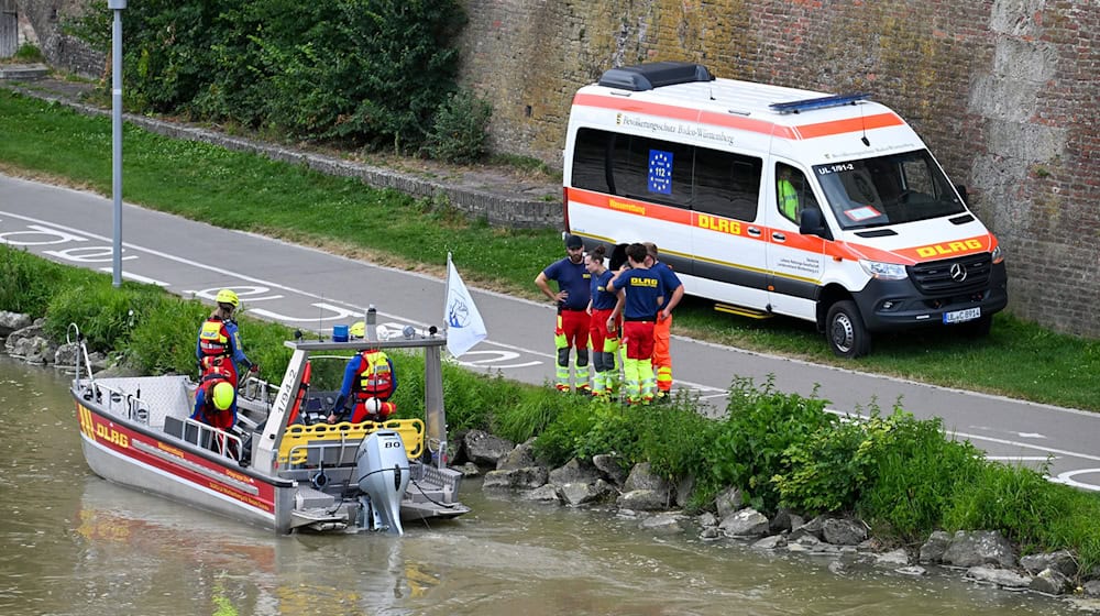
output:
<instances>
[{"instance_id":1,"label":"small rounded bush against the wall, right end of the tall foliage","mask_svg":"<svg viewBox=\"0 0 1100 616\"><path fill-rule=\"evenodd\" d=\"M439 107L426 150L432 158L471 163L485 154L485 128L493 116L488 102L459 90Z\"/></svg>"}]
</instances>

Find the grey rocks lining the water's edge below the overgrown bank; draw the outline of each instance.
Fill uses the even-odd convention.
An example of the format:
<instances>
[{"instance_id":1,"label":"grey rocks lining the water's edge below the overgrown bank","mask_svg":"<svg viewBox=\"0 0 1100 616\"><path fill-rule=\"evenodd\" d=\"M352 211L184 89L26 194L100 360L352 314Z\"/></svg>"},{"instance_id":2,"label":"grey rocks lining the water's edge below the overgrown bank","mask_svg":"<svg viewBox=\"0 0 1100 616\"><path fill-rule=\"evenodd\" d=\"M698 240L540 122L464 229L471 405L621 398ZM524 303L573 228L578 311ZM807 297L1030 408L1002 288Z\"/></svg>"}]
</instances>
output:
<instances>
[{"instance_id":1,"label":"grey rocks lining the water's edge below the overgrown bank","mask_svg":"<svg viewBox=\"0 0 1100 616\"><path fill-rule=\"evenodd\" d=\"M82 361L77 342L51 340L43 323L41 318L0 310L7 354L59 369ZM98 353L89 355L88 364L97 375L118 371ZM734 541L766 552L826 557L833 559L829 570L837 573L870 565L924 575L928 568L939 566L975 583L1063 597L1078 609L1100 610L1100 571L1080 571L1065 550L1018 558L1018 547L998 531L935 531L919 548L891 547L871 537L858 519L823 515L806 520L789 510L766 516L746 506L737 488L719 494L713 510L689 514L683 507L693 480L670 483L652 473L648 463L626 470L618 457L607 453L549 469L536 459L534 439L517 446L481 430L455 437L452 465L466 476L484 474L482 490L488 493L548 506L612 509L657 536L694 534L704 541Z\"/></svg>"}]
</instances>

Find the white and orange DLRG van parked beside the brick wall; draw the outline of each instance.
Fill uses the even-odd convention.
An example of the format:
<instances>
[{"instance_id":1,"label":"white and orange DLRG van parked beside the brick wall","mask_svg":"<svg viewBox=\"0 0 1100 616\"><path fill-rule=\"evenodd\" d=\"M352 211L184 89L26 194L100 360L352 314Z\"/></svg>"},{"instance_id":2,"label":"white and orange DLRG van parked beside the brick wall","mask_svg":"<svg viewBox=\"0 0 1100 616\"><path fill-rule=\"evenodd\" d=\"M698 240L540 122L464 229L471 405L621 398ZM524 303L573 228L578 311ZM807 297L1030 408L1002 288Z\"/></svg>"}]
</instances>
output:
<instances>
[{"instance_id":1,"label":"white and orange DLRG van parked beside the brick wall","mask_svg":"<svg viewBox=\"0 0 1100 616\"><path fill-rule=\"evenodd\" d=\"M686 293L815 321L840 356L876 331L983 336L1008 302L965 189L866 95L613 68L573 98L563 179L565 230L587 248L656 242Z\"/></svg>"}]
</instances>

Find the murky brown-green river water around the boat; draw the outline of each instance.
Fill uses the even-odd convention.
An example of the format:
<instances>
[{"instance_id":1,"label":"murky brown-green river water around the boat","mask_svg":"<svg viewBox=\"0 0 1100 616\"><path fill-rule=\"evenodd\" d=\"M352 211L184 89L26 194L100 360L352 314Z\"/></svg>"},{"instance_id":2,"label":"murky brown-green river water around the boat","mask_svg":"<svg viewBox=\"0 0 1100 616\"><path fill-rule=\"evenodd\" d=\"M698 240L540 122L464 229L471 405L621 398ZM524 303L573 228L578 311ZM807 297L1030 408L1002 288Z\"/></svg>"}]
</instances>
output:
<instances>
[{"instance_id":1,"label":"murky brown-green river water around the boat","mask_svg":"<svg viewBox=\"0 0 1100 616\"><path fill-rule=\"evenodd\" d=\"M375 535L275 537L109 484L80 453L67 377L0 355L0 614L985 615L1058 600L736 542L610 513L491 498Z\"/></svg>"}]
</instances>

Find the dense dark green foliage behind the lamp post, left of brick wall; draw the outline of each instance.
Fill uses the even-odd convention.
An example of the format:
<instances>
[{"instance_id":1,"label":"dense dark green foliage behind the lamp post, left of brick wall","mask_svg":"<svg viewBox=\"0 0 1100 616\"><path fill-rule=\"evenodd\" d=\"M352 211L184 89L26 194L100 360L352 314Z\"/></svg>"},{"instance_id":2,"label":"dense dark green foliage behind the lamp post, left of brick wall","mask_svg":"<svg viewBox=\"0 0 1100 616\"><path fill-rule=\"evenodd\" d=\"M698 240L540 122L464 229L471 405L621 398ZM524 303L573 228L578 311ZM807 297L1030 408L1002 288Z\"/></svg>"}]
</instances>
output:
<instances>
[{"instance_id":1,"label":"dense dark green foliage behind the lamp post, left of brick wall","mask_svg":"<svg viewBox=\"0 0 1100 616\"><path fill-rule=\"evenodd\" d=\"M96 2L72 31L108 51ZM455 0L146 0L123 13L123 92L299 140L415 150L458 91Z\"/></svg>"}]
</instances>

